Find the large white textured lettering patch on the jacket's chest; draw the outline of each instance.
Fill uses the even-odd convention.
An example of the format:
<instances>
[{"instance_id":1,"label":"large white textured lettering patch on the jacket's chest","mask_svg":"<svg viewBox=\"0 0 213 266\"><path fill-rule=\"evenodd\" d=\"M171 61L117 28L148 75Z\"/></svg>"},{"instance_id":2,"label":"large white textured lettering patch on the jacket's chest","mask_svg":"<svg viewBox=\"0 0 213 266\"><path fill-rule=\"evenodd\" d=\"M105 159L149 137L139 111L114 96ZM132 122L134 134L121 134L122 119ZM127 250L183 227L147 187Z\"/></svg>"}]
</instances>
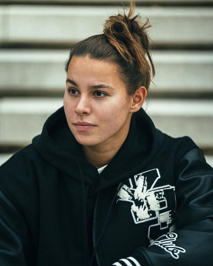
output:
<instances>
[{"instance_id":1,"label":"large white textured lettering patch on the jacket's chest","mask_svg":"<svg viewBox=\"0 0 213 266\"><path fill-rule=\"evenodd\" d=\"M131 202L131 214L136 224L144 223L156 219L156 223L149 226L148 238L150 243L156 239L154 231L168 228L169 231L174 230L172 227L172 213L174 212L175 187L169 184L156 186L156 182L160 178L158 169L152 169L134 176L134 179L128 179L127 184L124 184L120 189L118 201ZM169 204L167 196L172 192L172 204ZM169 205L169 206L168 206ZM171 210L173 207L173 210ZM161 231L162 232L162 231ZM162 234L162 233L161 233Z\"/></svg>"}]
</instances>

